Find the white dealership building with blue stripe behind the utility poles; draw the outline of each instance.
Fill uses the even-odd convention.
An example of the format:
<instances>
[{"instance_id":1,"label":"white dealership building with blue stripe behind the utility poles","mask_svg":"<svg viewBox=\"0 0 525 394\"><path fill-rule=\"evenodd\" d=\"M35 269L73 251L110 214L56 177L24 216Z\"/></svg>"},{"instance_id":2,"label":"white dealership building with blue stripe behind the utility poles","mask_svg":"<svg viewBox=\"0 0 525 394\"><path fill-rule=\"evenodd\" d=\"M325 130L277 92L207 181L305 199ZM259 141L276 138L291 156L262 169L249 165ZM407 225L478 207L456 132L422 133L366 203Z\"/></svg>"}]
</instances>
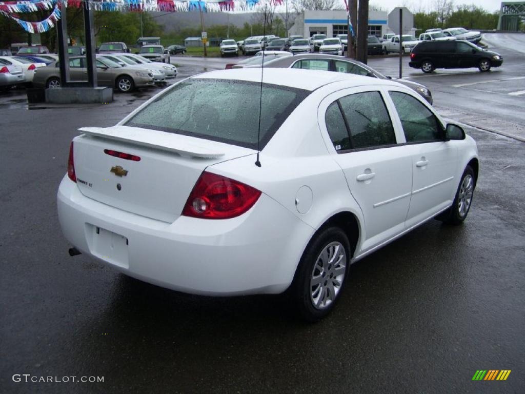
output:
<instances>
[{"instance_id":1,"label":"white dealership building with blue stripe behind the utility poles","mask_svg":"<svg viewBox=\"0 0 525 394\"><path fill-rule=\"evenodd\" d=\"M348 19L344 10L304 11L299 14L295 23L288 29L288 35L311 37L314 34L326 34L334 37L338 34L348 34ZM392 33L387 26L388 15L385 11L370 11L368 34L382 37ZM355 30L354 30L355 31Z\"/></svg>"}]
</instances>

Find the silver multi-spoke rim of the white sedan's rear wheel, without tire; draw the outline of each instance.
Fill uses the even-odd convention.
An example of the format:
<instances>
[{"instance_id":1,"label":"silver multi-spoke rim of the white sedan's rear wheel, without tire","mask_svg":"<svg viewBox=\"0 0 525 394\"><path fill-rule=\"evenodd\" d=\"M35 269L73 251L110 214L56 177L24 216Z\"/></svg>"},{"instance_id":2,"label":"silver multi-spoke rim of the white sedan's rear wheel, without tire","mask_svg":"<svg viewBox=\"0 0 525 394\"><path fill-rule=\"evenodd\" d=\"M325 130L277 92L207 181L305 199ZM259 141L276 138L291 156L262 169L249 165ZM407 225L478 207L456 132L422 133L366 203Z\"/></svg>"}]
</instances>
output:
<instances>
[{"instance_id":1,"label":"silver multi-spoke rim of the white sedan's rear wheel, without tire","mask_svg":"<svg viewBox=\"0 0 525 394\"><path fill-rule=\"evenodd\" d=\"M340 242L323 248L310 276L310 299L317 309L327 308L337 297L346 271L346 252Z\"/></svg>"}]
</instances>

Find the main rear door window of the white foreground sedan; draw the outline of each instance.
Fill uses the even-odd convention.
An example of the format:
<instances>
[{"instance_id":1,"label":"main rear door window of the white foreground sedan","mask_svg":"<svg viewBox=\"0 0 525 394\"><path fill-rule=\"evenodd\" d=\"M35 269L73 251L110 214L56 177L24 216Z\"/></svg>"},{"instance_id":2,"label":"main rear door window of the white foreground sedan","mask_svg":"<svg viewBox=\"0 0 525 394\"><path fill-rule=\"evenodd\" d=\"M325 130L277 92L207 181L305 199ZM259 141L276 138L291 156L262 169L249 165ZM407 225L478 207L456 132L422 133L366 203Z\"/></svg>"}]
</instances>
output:
<instances>
[{"instance_id":1,"label":"main rear door window of the white foreground sedan","mask_svg":"<svg viewBox=\"0 0 525 394\"><path fill-rule=\"evenodd\" d=\"M395 144L395 133L380 92L342 97L339 102L354 149Z\"/></svg>"}]
</instances>

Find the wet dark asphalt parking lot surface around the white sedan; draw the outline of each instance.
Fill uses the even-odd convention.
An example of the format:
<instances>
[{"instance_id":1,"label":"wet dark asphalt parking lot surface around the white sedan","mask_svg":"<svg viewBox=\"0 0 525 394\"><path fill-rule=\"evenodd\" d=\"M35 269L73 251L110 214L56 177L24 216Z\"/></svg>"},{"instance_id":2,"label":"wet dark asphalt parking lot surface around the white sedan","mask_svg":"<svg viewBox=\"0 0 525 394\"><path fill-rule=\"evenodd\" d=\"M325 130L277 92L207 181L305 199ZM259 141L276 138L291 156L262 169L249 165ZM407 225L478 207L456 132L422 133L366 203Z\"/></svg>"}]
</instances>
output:
<instances>
[{"instance_id":1,"label":"wet dark asphalt parking lot surface around the white sedan","mask_svg":"<svg viewBox=\"0 0 525 394\"><path fill-rule=\"evenodd\" d=\"M56 192L70 140L159 89L35 109L22 90L0 96L0 392L524 392L525 37L486 42L504 59L486 73L424 75L404 58L403 76L428 86L478 144L467 221L429 221L352 265L334 313L310 325L281 296L191 296L69 257ZM172 57L177 80L232 60ZM395 77L397 62L369 65ZM472 381L479 369L512 372Z\"/></svg>"}]
</instances>

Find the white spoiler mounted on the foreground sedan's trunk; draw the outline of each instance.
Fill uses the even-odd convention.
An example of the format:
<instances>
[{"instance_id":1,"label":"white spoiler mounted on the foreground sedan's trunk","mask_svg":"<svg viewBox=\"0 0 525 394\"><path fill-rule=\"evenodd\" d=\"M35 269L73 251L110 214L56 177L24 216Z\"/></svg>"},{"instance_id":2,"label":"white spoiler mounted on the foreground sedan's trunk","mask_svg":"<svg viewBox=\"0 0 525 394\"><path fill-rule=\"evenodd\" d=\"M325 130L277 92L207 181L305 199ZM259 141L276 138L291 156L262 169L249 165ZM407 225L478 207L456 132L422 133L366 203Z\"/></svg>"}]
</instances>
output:
<instances>
[{"instance_id":1,"label":"white spoiler mounted on the foreground sedan's trunk","mask_svg":"<svg viewBox=\"0 0 525 394\"><path fill-rule=\"evenodd\" d=\"M142 129L139 127L112 126L82 127L78 129L84 134L110 140L131 142L144 147L175 152L181 156L201 159L217 159L224 156L224 152L199 145L190 141L192 137L181 134L167 133L159 130Z\"/></svg>"}]
</instances>

